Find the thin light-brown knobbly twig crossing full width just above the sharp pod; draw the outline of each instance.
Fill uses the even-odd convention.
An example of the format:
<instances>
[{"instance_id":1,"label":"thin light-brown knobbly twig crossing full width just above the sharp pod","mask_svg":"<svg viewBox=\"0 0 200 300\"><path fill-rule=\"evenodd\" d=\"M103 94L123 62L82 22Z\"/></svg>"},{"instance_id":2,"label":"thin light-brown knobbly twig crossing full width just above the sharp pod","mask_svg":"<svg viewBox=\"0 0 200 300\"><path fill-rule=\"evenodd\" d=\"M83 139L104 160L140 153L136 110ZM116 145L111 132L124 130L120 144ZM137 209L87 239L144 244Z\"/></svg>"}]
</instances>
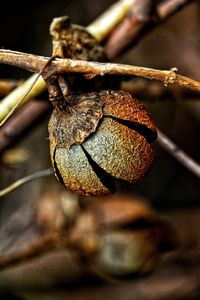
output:
<instances>
[{"instance_id":1,"label":"thin light-brown knobbly twig crossing full width just above the sharp pod","mask_svg":"<svg viewBox=\"0 0 200 300\"><path fill-rule=\"evenodd\" d=\"M17 66L32 72L40 72L49 60L48 57L27 54L22 52L0 50L0 63ZM177 84L182 87L200 92L200 82L176 73L177 69L157 70L145 67L130 66L125 64L98 63L84 60L56 58L44 70L44 76L53 73L83 73L94 75L128 75L163 82L165 85Z\"/></svg>"}]
</instances>

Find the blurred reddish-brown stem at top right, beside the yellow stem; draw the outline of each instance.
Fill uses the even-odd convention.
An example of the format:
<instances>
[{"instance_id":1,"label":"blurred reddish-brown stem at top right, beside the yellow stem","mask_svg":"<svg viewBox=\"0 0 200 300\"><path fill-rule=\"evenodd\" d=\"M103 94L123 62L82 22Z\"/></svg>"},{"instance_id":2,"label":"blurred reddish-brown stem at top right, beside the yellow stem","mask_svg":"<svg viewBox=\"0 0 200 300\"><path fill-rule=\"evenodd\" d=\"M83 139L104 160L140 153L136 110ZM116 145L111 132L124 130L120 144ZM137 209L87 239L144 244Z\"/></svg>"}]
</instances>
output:
<instances>
[{"instance_id":1,"label":"blurred reddish-brown stem at top right, beside the yellow stem","mask_svg":"<svg viewBox=\"0 0 200 300\"><path fill-rule=\"evenodd\" d=\"M145 33L192 1L165 0L157 5L152 0L134 1L126 18L114 29L105 45L109 59L122 54Z\"/></svg>"}]
</instances>

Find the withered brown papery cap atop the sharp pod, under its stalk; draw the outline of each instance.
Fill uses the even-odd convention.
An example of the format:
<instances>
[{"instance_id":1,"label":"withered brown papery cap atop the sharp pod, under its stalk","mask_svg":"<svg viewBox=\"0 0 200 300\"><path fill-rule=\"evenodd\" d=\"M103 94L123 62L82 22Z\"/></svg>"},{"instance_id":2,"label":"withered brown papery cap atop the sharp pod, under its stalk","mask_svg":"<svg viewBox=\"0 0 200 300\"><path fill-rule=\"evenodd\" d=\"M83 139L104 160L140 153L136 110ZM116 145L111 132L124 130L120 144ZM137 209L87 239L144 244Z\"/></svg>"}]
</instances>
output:
<instances>
[{"instance_id":1,"label":"withered brown papery cap atop the sharp pod, under its stalk","mask_svg":"<svg viewBox=\"0 0 200 300\"><path fill-rule=\"evenodd\" d=\"M81 144L103 116L102 100L98 93L69 96L70 106L65 112L54 110L49 121L49 138L57 148Z\"/></svg>"}]
</instances>

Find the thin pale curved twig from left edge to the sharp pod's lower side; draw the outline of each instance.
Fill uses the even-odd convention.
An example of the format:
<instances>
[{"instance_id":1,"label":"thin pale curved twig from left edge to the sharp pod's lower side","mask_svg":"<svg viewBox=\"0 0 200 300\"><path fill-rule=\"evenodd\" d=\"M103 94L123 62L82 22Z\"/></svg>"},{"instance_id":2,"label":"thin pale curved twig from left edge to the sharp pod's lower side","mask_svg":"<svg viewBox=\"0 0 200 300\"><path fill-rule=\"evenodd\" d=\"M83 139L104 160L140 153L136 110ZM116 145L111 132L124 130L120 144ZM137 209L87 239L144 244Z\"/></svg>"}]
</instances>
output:
<instances>
[{"instance_id":1,"label":"thin pale curved twig from left edge to the sharp pod's lower side","mask_svg":"<svg viewBox=\"0 0 200 300\"><path fill-rule=\"evenodd\" d=\"M16 190L17 188L24 185L25 183L28 183L32 180L39 179L42 177L51 176L53 174L54 174L53 169L50 168L50 169L42 170L39 172L35 172L26 177L20 178L17 181L15 181L14 183L12 183L11 185L7 186L6 188L0 190L0 198L7 195L8 193Z\"/></svg>"}]
</instances>

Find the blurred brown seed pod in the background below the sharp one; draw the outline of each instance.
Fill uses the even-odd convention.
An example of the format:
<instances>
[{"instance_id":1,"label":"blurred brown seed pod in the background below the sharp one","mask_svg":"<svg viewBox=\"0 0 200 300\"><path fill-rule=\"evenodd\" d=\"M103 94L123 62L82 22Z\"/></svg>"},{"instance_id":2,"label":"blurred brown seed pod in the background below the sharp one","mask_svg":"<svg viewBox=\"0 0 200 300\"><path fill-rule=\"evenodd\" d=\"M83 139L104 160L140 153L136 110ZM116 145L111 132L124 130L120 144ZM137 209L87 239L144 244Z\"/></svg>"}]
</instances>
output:
<instances>
[{"instance_id":1,"label":"blurred brown seed pod in the background below the sharp one","mask_svg":"<svg viewBox=\"0 0 200 300\"><path fill-rule=\"evenodd\" d=\"M175 248L175 236L145 201L116 195L95 199L69 239L92 272L127 278L152 270L162 252Z\"/></svg>"}]
</instances>

